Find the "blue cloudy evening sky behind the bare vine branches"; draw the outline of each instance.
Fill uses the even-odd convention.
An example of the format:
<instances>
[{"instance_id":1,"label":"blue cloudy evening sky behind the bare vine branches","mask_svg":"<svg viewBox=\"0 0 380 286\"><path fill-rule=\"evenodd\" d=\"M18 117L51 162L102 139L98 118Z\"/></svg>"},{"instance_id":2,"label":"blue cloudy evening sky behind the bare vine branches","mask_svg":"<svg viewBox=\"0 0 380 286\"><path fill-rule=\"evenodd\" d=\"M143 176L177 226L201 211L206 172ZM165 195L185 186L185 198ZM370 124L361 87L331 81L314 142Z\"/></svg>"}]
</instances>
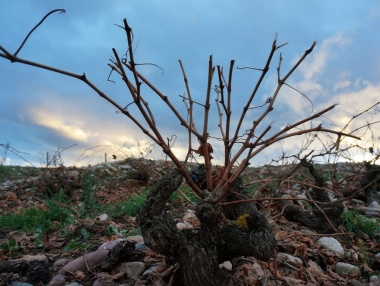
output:
<instances>
[{"instance_id":1,"label":"blue cloudy evening sky behind the bare vine branches","mask_svg":"<svg viewBox=\"0 0 380 286\"><path fill-rule=\"evenodd\" d=\"M154 64L140 65L138 71L168 96L184 118L186 107L180 95L186 95L186 86L179 60L197 102L204 102L206 97L210 55L214 65L224 67L226 77L230 61L235 60L232 126L236 126L260 76L259 71L238 67L263 68L274 39L278 45L287 43L276 51L244 120L243 130L250 128L265 111L265 102L273 97L280 53L281 76L284 76L316 41L313 52L287 80L288 85L282 87L274 109L257 132L271 124L267 135L270 136L337 104L325 116L300 128L322 123L325 128L341 131L349 123L344 131L350 133L367 125L355 132L362 140L344 138L340 148L359 145L366 150L369 147L374 147L375 152L378 150L380 3L377 0L2 1L0 45L14 53L44 15L58 8L65 9L66 13L50 15L30 36L18 56L73 73L85 73L110 98L121 106L130 106L128 110L137 117L138 110L129 105L132 100L120 76L112 73L112 81L107 81L112 48L120 55L127 51L125 32L119 27L124 18L133 28L136 62ZM216 84L215 73L213 85ZM186 130L161 99L146 86L142 91L163 137L173 138L172 150L183 158L188 142ZM211 95L209 133L214 160L218 163L223 160L223 143L217 140L221 135L214 103L216 92ZM198 130L203 128L203 113L202 106L194 108ZM357 114L360 116L355 116ZM263 150L251 163L266 164L284 156L302 156L311 150L319 154L319 150L323 152L335 139L336 136L325 134L293 137ZM117 159L166 158L131 120L117 113L114 106L83 82L11 63L2 57L0 144L0 164L6 165L43 166L58 153L59 163L66 166L104 162L105 154L108 161L112 161L112 155ZM6 146L8 148L4 148ZM299 150L303 150L302 154ZM361 161L373 157L360 150L350 148L340 153L339 160L350 157ZM232 151L232 155L236 153L237 150ZM195 158L200 159L198 155ZM331 158L318 157L322 159Z\"/></svg>"}]
</instances>

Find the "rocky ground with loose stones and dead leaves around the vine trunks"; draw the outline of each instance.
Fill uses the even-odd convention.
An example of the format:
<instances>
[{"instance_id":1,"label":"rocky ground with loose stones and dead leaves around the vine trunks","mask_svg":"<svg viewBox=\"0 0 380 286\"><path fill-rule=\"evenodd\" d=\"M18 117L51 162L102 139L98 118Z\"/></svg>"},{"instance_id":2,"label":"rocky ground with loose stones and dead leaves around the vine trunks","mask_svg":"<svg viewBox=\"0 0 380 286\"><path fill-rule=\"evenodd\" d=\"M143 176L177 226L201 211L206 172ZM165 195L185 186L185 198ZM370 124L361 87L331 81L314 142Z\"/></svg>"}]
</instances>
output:
<instances>
[{"instance_id":1,"label":"rocky ground with loose stones and dead leaves around the vine trunks","mask_svg":"<svg viewBox=\"0 0 380 286\"><path fill-rule=\"evenodd\" d=\"M319 167L326 173L325 187L332 199L358 187L361 165ZM61 204L70 208L73 219L47 232L0 227L0 286L176 285L177 265L144 244L135 217L123 211L111 214L112 208L107 208L146 193L169 163L127 160L86 168L9 168L0 169L0 216L47 210L49 198L63 190L70 203L62 199ZM260 200L260 208L276 233L277 249L268 262L240 257L221 264L234 285L380 285L379 233L358 235L341 226L335 233L320 234L283 217L277 201L271 200L273 189L307 208L308 203L298 199L306 198L305 190L313 184L310 175L300 171L275 183L290 170L294 166L264 166L244 174L252 195L267 198ZM334 179L328 176L332 173ZM86 182L93 185L86 187ZM88 190L93 192L85 193ZM93 200L83 198L86 194ZM363 200L360 194L351 196L344 205L377 223L379 231L379 202L368 205ZM185 187L173 197L169 207L179 229L199 226L193 211L196 201ZM91 202L98 212L89 209L82 215Z\"/></svg>"}]
</instances>

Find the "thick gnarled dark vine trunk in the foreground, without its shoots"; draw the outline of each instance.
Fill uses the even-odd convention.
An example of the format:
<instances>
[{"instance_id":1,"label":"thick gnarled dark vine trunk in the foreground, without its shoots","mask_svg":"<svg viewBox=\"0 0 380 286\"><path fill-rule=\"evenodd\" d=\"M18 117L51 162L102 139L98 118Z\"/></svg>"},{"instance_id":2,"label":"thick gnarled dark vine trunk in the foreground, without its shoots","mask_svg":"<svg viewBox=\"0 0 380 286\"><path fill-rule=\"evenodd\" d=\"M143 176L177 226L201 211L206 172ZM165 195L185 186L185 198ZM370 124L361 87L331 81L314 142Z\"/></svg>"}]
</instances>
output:
<instances>
[{"instance_id":1,"label":"thick gnarled dark vine trunk in the foreground, without its shoots","mask_svg":"<svg viewBox=\"0 0 380 286\"><path fill-rule=\"evenodd\" d=\"M271 257L276 244L273 232L253 205L223 209L205 199L196 207L200 229L178 230L165 206L182 179L174 170L157 182L139 211L137 223L151 249L178 262L185 285L229 285L231 276L219 268L220 263L239 256ZM225 219L242 215L242 210L246 211L244 227Z\"/></svg>"}]
</instances>

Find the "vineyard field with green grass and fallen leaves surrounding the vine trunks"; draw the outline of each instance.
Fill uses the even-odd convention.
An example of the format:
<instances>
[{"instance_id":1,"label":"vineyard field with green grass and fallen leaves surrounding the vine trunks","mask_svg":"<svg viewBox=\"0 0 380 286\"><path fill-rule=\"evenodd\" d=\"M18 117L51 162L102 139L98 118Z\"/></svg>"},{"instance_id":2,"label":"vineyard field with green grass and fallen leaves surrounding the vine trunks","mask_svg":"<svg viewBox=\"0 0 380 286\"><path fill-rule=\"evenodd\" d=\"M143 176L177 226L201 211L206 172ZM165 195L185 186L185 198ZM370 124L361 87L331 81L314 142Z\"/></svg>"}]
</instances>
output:
<instances>
[{"instance_id":1,"label":"vineyard field with green grass and fallen leaves surrounding the vine trunks","mask_svg":"<svg viewBox=\"0 0 380 286\"><path fill-rule=\"evenodd\" d=\"M360 192L343 200L345 211L335 233L318 233L284 217L278 198L291 196L305 209L311 204L306 197L305 201L298 200L303 198L305 189L313 186L313 177L307 169L296 167L263 166L244 173L245 189L251 198L257 199L260 210L274 228L278 246L277 255L267 263L255 262L250 257L232 261L230 273L242 283L236 285L256 285L250 283L264 279L268 280L267 285L275 285L275 281L277 285L299 285L307 280L323 285L348 285L352 279L365 283L370 276L379 274L379 219L362 215L360 210L365 203L360 200L364 200ZM43 255L42 260L48 263L48 273L42 279L46 283L63 265L95 252L103 243L128 240L143 245L135 216L150 187L170 168L168 162L143 159L85 168L0 166L0 285L11 281L33 284L33 279L22 271L7 268L10 262L25 259L25 255ZM318 169L335 198L343 198L345 192L360 187L358 182L364 171L360 164L321 165ZM197 228L197 219L192 214L198 201L185 184L172 195L168 210L178 227ZM337 239L345 249L344 256L321 249L318 244L321 237ZM169 285L175 267L170 259L149 248L138 252L139 255L119 262L140 263L141 273L130 274L128 271L132 270L120 268L104 271L99 265L87 265L86 270L73 271L66 282L93 285L103 279L111 284L99 285ZM284 260L279 254L289 257ZM290 261L292 257L301 259L301 264ZM360 272L338 275L337 262L349 263ZM157 265L162 269L157 269ZM154 278L157 276L161 284Z\"/></svg>"}]
</instances>

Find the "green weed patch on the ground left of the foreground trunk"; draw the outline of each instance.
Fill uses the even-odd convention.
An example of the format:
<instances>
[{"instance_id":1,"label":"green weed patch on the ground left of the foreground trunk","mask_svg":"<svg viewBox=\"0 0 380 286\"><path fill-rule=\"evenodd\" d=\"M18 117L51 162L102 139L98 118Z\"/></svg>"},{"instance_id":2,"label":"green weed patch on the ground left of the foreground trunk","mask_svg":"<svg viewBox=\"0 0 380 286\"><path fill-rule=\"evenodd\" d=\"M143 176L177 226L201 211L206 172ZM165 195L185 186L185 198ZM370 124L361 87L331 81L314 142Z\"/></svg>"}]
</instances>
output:
<instances>
[{"instance_id":1,"label":"green weed patch on the ground left of the foreground trunk","mask_svg":"<svg viewBox=\"0 0 380 286\"><path fill-rule=\"evenodd\" d=\"M19 230L33 233L37 247L44 247L44 240L50 234L66 241L63 251L76 251L89 249L94 245L91 229L80 226L78 219L94 218L99 213L107 213L112 219L124 215L136 216L139 208L146 200L149 189L133 195L124 201L114 204L101 205L96 196L97 179L86 173L81 178L82 192L79 194L80 204L74 202L65 190L51 193L45 201L45 209L30 208L20 213L7 213L0 216L0 229L2 231ZM77 222L79 227L77 228ZM110 224L105 230L105 235L127 237L141 234L138 228L119 229ZM10 255L20 252L22 247L17 242L9 240L0 245L0 251L6 251Z\"/></svg>"}]
</instances>

